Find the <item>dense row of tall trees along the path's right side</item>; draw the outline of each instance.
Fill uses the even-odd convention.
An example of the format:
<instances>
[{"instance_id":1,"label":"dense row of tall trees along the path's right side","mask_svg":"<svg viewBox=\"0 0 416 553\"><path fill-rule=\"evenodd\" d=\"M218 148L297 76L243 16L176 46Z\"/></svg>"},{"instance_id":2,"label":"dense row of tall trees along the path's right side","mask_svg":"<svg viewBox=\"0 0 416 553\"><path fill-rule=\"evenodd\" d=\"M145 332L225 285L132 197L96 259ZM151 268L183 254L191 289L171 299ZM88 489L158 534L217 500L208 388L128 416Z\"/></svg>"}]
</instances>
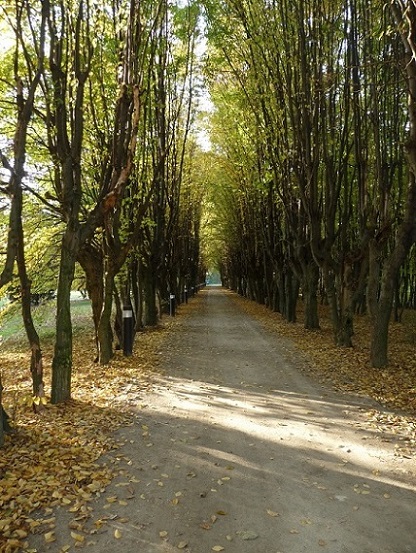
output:
<instances>
[{"instance_id":1,"label":"dense row of tall trees along the path's right side","mask_svg":"<svg viewBox=\"0 0 416 553\"><path fill-rule=\"evenodd\" d=\"M414 303L416 7L412 0L205 2L227 284L337 344Z\"/></svg>"}]
</instances>

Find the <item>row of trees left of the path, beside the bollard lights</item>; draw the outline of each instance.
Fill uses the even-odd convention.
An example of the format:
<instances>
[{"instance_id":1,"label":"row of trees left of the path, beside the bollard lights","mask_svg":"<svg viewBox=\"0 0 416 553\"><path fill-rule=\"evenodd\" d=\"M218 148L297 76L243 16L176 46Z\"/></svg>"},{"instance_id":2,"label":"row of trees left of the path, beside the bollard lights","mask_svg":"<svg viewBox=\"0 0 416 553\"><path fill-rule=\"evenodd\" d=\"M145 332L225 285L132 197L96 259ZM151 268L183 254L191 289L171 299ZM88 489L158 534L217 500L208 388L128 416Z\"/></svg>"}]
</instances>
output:
<instances>
[{"instance_id":1,"label":"row of trees left of the path, beside the bollard lights","mask_svg":"<svg viewBox=\"0 0 416 553\"><path fill-rule=\"evenodd\" d=\"M199 8L167 0L10 0L0 13L0 290L18 277L33 393L41 397L28 251L38 273L53 275L37 280L44 291L57 289L58 403L71 395L70 293L79 267L102 364L113 355L123 304L133 308L137 328L155 325L169 294L180 298L200 281L203 183L192 134Z\"/></svg>"}]
</instances>

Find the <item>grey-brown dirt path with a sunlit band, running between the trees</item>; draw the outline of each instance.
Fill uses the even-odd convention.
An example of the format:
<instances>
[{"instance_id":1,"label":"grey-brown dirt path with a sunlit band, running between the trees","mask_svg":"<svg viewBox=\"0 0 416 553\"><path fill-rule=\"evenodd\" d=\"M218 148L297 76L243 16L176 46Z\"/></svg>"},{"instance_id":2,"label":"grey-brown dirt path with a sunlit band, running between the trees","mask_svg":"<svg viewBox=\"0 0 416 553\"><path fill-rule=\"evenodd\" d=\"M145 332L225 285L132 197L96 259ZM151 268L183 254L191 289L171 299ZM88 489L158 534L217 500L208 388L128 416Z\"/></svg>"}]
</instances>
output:
<instances>
[{"instance_id":1,"label":"grey-brown dirt path with a sunlit band, running between the trees","mask_svg":"<svg viewBox=\"0 0 416 553\"><path fill-rule=\"evenodd\" d=\"M367 422L380 406L315 382L231 292L192 301L161 351L165 376L102 460L120 474L91 504L83 549L415 553L415 461ZM57 541L31 547L73 544L73 516L58 509Z\"/></svg>"}]
</instances>

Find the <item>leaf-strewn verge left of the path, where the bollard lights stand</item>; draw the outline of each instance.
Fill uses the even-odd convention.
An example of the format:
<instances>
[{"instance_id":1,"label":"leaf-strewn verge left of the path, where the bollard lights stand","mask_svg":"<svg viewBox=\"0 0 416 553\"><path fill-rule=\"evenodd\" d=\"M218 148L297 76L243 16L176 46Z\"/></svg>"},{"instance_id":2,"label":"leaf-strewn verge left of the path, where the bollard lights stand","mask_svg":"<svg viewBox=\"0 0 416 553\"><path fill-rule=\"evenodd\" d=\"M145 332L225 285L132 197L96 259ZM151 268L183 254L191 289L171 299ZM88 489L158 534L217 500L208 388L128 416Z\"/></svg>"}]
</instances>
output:
<instances>
[{"instance_id":1,"label":"leaf-strewn verge left of the path, where the bollard lights stand","mask_svg":"<svg viewBox=\"0 0 416 553\"><path fill-rule=\"evenodd\" d=\"M78 325L80 321L82 318L76 321ZM141 394L157 370L160 344L172 324L166 321L155 330L140 333L133 356L117 352L104 367L94 363L92 333L78 328L72 400L47 404L40 415L31 409L25 342L3 344L4 407L15 432L0 450L1 552L26 551L25 540L34 532L42 533L45 543L53 542L52 509L56 506L65 506L76 519L88 517L89 503L117 471L116 466L98 460L120 447L112 431L132 423L131 408L140 408ZM49 345L44 357L45 367L49 367ZM45 370L47 391L49 372Z\"/></svg>"}]
</instances>

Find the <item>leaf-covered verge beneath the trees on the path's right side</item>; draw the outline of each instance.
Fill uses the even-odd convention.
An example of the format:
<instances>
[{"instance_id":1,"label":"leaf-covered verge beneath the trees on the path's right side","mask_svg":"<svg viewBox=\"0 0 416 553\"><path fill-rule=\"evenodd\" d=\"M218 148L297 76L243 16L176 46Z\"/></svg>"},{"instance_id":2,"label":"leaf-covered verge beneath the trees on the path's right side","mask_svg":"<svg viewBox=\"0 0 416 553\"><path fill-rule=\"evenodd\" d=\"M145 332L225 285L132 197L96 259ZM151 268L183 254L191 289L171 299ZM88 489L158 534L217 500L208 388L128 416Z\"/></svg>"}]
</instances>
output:
<instances>
[{"instance_id":1,"label":"leaf-covered verge beneath the trees on the path's right side","mask_svg":"<svg viewBox=\"0 0 416 553\"><path fill-rule=\"evenodd\" d=\"M389 333L390 363L374 369L369 362L370 321L356 317L352 348L334 345L328 308L320 306L317 331L303 326L303 305L298 322L288 323L279 314L255 302L239 298L243 309L265 328L289 338L303 354L306 370L320 382L339 391L369 397L380 409L368 409L369 423L380 433L395 434L396 455L416 455L416 313L405 311L402 322L392 322Z\"/></svg>"}]
</instances>

